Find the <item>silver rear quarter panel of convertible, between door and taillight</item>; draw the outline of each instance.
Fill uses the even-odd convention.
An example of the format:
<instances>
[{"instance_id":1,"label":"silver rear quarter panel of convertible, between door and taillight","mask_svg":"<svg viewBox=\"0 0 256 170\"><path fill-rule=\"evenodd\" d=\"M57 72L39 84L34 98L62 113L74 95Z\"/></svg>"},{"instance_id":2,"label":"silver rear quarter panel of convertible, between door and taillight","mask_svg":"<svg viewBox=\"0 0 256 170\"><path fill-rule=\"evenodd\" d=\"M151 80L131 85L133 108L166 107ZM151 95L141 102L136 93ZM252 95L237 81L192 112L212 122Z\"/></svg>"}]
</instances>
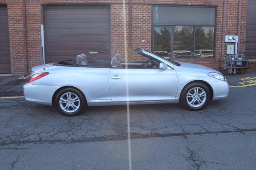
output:
<instances>
[{"instance_id":1,"label":"silver rear quarter panel of convertible, between door and taillight","mask_svg":"<svg viewBox=\"0 0 256 170\"><path fill-rule=\"evenodd\" d=\"M72 86L82 91L87 100L111 100L108 85L109 71L110 68L54 66L41 71L50 72L50 76L42 77L31 84Z\"/></svg>"}]
</instances>

